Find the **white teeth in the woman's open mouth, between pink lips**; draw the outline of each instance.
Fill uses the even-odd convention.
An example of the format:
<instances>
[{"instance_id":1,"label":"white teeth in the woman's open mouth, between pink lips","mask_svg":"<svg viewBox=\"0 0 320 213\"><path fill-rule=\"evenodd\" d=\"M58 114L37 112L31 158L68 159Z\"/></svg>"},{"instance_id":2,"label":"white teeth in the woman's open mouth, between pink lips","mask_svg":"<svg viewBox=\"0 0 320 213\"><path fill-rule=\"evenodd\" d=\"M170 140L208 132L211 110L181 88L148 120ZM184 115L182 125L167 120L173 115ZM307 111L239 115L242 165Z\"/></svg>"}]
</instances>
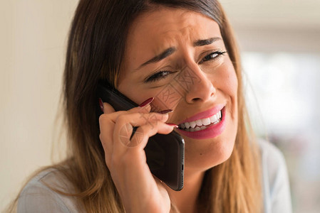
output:
<instances>
[{"instance_id":1,"label":"white teeth in the woman's open mouth, between pink lips","mask_svg":"<svg viewBox=\"0 0 320 213\"><path fill-rule=\"evenodd\" d=\"M179 124L179 129L183 131L200 131L207 129L209 126L218 124L222 120L222 110L218 111L217 114L210 116L205 119L199 119L196 121L185 122Z\"/></svg>"}]
</instances>

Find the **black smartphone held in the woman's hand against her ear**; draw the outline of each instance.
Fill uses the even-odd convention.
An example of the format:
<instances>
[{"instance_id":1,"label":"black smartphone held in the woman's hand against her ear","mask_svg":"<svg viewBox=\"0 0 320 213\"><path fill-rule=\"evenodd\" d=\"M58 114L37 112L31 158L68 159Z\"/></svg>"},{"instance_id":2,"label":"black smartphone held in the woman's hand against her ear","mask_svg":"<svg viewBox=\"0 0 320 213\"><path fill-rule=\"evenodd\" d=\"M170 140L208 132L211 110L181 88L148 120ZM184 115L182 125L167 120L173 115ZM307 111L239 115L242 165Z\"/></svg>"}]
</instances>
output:
<instances>
[{"instance_id":1,"label":"black smartphone held in the woman's hand against her ear","mask_svg":"<svg viewBox=\"0 0 320 213\"><path fill-rule=\"evenodd\" d=\"M126 111L138 104L125 97L108 82L99 82L97 96L109 103L115 111ZM151 173L165 182L172 190L183 187L185 163L185 141L179 133L172 131L165 135L157 133L149 138L145 155Z\"/></svg>"}]
</instances>

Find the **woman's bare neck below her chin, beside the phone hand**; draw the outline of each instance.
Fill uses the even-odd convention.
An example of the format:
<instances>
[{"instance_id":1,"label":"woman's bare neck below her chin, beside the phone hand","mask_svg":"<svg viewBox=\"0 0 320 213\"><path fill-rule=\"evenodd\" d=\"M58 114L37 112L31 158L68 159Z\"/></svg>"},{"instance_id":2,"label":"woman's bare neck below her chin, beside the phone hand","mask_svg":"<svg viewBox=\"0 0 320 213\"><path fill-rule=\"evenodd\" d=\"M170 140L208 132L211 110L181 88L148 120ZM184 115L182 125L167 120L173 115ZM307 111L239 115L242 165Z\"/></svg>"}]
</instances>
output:
<instances>
[{"instance_id":1,"label":"woman's bare neck below her chin, beside the phone hand","mask_svg":"<svg viewBox=\"0 0 320 213\"><path fill-rule=\"evenodd\" d=\"M167 187L170 199L180 212L197 212L197 196L202 185L205 172L185 173L184 186L179 192Z\"/></svg>"}]
</instances>

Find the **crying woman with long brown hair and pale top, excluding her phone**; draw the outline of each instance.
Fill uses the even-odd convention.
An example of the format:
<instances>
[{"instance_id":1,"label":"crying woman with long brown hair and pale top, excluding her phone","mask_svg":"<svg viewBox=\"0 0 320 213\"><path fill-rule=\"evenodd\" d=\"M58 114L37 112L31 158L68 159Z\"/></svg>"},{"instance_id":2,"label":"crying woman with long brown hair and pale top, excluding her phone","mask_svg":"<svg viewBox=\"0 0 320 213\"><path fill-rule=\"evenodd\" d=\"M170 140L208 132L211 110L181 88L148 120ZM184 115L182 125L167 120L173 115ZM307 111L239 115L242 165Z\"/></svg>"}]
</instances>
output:
<instances>
[{"instance_id":1,"label":"crying woman with long brown hair and pale top, excluding her phone","mask_svg":"<svg viewBox=\"0 0 320 213\"><path fill-rule=\"evenodd\" d=\"M100 80L142 104L115 112L100 101L98 122ZM217 1L81 0L64 97L70 155L29 181L18 212L291 211L282 155L249 129L239 53ZM125 143L124 126L138 126ZM153 177L143 150L171 131L185 139L179 192Z\"/></svg>"}]
</instances>

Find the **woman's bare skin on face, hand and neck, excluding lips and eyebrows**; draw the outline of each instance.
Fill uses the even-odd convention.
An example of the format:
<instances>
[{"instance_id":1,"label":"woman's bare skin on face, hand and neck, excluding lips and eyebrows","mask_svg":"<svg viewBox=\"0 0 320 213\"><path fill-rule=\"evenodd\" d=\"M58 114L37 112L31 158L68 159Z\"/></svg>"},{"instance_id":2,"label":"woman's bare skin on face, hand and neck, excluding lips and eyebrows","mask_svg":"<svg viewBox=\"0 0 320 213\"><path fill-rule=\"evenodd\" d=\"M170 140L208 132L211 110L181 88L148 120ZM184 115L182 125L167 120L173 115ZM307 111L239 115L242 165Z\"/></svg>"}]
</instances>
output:
<instances>
[{"instance_id":1,"label":"woman's bare skin on face, hand and neck, excluding lips and eyebrows","mask_svg":"<svg viewBox=\"0 0 320 213\"><path fill-rule=\"evenodd\" d=\"M194 46L196 40L208 38L218 39L211 44ZM159 62L141 66L167 48L174 48L174 53ZM108 158L106 163L126 209L138 212L155 207L159 212L167 212L168 207L163 209L161 203L170 203L167 197L169 194L181 212L195 212L195 200L205 170L223 163L231 155L237 133L237 76L227 53L211 54L217 51L226 51L220 28L215 21L200 13L163 8L139 16L131 26L118 90L138 104L150 97L155 99L145 108L116 113L110 105L104 103L105 114L100 117L100 138ZM210 54L212 59L208 60ZM145 82L148 77L160 71L167 71L162 73L165 78ZM182 73L188 73L193 79L187 87L183 87L181 80L178 80L178 75ZM172 102L168 102L164 95L167 91L173 95ZM173 127L165 122L180 124L190 116L218 104L224 105L226 119L225 129L219 136L200 140L182 135L185 138L183 190L175 192L153 179L143 152L148 136L157 132L169 133ZM165 115L158 114L159 118L155 121L149 119L151 107L154 111L174 111ZM143 114L143 117L138 119L137 113ZM136 143L137 146L125 147L117 138L120 129L126 124L128 129L139 124L138 132L144 137ZM123 177L134 178L130 180ZM151 202L148 200L146 206L142 204L143 201L135 196L139 193L150 197Z\"/></svg>"}]
</instances>

